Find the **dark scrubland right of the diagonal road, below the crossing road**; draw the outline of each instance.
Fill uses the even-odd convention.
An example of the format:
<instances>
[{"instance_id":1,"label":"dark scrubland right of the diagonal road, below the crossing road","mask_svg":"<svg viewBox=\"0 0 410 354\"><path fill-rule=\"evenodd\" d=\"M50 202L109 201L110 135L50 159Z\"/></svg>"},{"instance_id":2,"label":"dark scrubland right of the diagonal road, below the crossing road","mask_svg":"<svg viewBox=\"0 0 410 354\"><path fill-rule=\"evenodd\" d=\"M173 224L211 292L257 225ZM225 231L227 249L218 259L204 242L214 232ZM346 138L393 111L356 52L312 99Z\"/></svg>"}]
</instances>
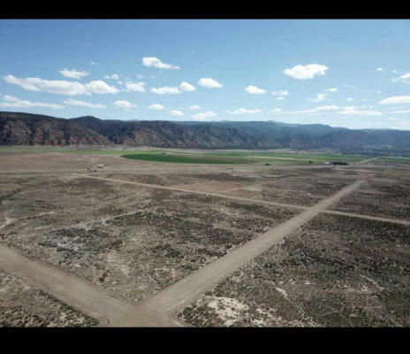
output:
<instances>
[{"instance_id":1,"label":"dark scrubland right of the diagonal road, below the crossing road","mask_svg":"<svg viewBox=\"0 0 410 354\"><path fill-rule=\"evenodd\" d=\"M179 317L205 327L408 327L410 227L320 215Z\"/></svg>"}]
</instances>

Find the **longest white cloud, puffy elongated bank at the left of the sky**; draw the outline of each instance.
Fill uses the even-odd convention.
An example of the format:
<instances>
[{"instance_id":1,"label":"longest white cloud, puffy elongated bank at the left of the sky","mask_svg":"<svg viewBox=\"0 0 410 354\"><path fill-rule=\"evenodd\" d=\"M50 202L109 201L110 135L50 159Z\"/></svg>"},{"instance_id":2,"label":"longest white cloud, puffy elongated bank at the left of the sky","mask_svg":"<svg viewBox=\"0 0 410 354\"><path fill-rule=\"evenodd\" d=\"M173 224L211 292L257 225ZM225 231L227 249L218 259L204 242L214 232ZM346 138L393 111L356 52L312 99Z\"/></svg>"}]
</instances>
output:
<instances>
[{"instance_id":1,"label":"longest white cloud, puffy elongated bank at the left of the sky","mask_svg":"<svg viewBox=\"0 0 410 354\"><path fill-rule=\"evenodd\" d=\"M20 79L13 75L3 77L4 81L21 86L30 91L44 91L58 95L91 95L96 94L115 94L119 90L114 86L106 84L104 81L90 81L86 84L75 81L43 80L40 78Z\"/></svg>"}]
</instances>

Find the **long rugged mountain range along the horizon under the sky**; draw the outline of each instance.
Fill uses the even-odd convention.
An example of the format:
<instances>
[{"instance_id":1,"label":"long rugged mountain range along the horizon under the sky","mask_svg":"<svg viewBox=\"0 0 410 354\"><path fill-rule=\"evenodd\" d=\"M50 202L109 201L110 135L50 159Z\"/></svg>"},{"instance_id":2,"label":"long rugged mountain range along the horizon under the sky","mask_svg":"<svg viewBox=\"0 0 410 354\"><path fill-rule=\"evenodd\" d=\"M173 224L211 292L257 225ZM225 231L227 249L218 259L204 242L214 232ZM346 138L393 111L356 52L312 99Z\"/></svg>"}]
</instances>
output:
<instances>
[{"instance_id":1,"label":"long rugged mountain range along the horizon under the sky","mask_svg":"<svg viewBox=\"0 0 410 354\"><path fill-rule=\"evenodd\" d=\"M125 145L190 149L332 149L410 154L410 131L275 121L60 119L0 112L0 145Z\"/></svg>"}]
</instances>

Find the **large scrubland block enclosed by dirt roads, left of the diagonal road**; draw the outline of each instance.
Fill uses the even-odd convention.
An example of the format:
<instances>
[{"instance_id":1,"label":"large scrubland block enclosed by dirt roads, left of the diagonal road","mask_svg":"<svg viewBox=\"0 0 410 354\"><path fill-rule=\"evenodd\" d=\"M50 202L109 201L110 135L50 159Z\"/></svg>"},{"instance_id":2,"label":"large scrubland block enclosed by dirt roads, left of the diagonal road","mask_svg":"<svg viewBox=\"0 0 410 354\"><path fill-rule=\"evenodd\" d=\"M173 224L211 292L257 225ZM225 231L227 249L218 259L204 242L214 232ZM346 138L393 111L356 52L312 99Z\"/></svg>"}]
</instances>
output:
<instances>
[{"instance_id":1,"label":"large scrubland block enclosed by dirt roads, left of the diagonal road","mask_svg":"<svg viewBox=\"0 0 410 354\"><path fill-rule=\"evenodd\" d=\"M133 301L296 213L81 175L3 181L0 242Z\"/></svg>"}]
</instances>

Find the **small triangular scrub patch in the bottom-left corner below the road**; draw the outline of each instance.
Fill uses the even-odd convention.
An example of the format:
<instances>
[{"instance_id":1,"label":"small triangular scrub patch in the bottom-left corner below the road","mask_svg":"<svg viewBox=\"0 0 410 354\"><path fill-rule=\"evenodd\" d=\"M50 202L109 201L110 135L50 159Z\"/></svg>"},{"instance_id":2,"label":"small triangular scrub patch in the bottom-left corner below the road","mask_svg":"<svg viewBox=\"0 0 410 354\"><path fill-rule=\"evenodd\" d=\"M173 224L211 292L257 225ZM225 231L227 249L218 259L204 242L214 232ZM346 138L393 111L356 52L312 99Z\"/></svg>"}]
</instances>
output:
<instances>
[{"instance_id":1,"label":"small triangular scrub patch in the bottom-left corner below the road","mask_svg":"<svg viewBox=\"0 0 410 354\"><path fill-rule=\"evenodd\" d=\"M97 320L0 269L0 327L90 327Z\"/></svg>"}]
</instances>

